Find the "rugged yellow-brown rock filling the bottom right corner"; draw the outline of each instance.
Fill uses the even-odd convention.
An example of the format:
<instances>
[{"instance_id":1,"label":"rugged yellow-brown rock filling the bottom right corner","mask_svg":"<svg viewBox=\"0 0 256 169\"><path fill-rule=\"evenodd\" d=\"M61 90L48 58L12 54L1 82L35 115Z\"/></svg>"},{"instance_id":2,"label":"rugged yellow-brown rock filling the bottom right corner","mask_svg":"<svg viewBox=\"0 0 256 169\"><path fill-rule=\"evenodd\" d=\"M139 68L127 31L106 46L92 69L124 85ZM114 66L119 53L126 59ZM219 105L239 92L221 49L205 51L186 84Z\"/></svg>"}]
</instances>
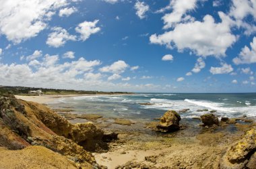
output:
<instances>
[{"instance_id":1,"label":"rugged yellow-brown rock filling the bottom right corner","mask_svg":"<svg viewBox=\"0 0 256 169\"><path fill-rule=\"evenodd\" d=\"M253 128L228 148L220 162L220 168L255 168L256 129Z\"/></svg>"}]
</instances>

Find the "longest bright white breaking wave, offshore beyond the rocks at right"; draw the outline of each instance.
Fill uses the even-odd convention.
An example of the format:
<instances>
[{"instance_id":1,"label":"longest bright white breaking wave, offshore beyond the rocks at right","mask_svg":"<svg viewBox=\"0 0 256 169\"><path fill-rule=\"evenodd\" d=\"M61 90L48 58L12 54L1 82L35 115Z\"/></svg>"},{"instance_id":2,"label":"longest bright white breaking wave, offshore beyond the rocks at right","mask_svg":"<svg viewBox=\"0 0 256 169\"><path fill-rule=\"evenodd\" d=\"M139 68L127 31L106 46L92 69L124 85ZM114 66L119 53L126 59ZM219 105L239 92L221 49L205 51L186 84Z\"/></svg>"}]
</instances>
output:
<instances>
[{"instance_id":1,"label":"longest bright white breaking wave, offshore beyond the rocks at right","mask_svg":"<svg viewBox=\"0 0 256 169\"><path fill-rule=\"evenodd\" d=\"M195 100L189 100L189 99L185 99L184 101L187 101L188 103L193 103L194 105L199 105L201 107L214 109L217 111L227 111L227 112L233 112L233 113L236 112L228 108L221 107L223 103L203 102L203 101L195 101Z\"/></svg>"}]
</instances>

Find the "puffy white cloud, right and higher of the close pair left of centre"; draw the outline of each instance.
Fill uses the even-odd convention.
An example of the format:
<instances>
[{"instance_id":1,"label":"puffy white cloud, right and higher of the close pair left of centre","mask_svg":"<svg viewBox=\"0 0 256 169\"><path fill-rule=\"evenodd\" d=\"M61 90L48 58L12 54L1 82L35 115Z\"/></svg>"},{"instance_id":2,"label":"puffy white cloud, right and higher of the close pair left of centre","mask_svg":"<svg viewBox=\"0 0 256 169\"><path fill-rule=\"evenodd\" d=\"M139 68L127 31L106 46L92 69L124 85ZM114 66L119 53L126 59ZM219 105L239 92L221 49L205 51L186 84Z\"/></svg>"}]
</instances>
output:
<instances>
[{"instance_id":1,"label":"puffy white cloud, right and higher of the close pair left of centre","mask_svg":"<svg viewBox=\"0 0 256 169\"><path fill-rule=\"evenodd\" d=\"M82 23L79 23L79 25L75 27L75 31L81 34L80 39L82 41L87 40L92 34L96 34L100 31L100 27L96 27L98 21L99 20L84 21Z\"/></svg>"}]
</instances>

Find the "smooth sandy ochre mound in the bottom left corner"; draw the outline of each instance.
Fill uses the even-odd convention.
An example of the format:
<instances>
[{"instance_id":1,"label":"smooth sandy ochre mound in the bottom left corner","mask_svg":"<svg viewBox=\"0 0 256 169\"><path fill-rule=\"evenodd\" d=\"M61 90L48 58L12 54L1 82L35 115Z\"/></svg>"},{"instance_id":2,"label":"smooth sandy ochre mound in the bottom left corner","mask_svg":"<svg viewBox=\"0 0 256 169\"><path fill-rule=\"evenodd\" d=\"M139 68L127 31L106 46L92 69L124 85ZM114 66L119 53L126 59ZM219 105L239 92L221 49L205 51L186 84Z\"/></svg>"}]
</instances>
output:
<instances>
[{"instance_id":1,"label":"smooth sandy ochre mound in the bottom left corner","mask_svg":"<svg viewBox=\"0 0 256 169\"><path fill-rule=\"evenodd\" d=\"M29 146L23 150L0 148L0 159L0 168L77 168L75 162L42 146Z\"/></svg>"}]
</instances>

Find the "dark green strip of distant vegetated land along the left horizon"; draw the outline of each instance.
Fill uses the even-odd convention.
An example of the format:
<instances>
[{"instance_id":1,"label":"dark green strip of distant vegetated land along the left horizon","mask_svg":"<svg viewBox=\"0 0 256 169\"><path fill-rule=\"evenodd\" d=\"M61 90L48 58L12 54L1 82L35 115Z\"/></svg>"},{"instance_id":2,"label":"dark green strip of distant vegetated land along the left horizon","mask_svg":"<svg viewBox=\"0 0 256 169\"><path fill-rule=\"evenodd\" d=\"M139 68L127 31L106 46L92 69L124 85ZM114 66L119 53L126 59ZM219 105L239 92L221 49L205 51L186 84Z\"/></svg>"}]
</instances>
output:
<instances>
[{"instance_id":1,"label":"dark green strip of distant vegetated land along the left horizon","mask_svg":"<svg viewBox=\"0 0 256 169\"><path fill-rule=\"evenodd\" d=\"M13 95L36 95L28 94L29 91L41 90L44 95L96 95L96 94L132 94L128 92L103 92L103 91L75 91L66 89L44 89L35 87L7 87L0 86L0 94L9 93Z\"/></svg>"}]
</instances>

